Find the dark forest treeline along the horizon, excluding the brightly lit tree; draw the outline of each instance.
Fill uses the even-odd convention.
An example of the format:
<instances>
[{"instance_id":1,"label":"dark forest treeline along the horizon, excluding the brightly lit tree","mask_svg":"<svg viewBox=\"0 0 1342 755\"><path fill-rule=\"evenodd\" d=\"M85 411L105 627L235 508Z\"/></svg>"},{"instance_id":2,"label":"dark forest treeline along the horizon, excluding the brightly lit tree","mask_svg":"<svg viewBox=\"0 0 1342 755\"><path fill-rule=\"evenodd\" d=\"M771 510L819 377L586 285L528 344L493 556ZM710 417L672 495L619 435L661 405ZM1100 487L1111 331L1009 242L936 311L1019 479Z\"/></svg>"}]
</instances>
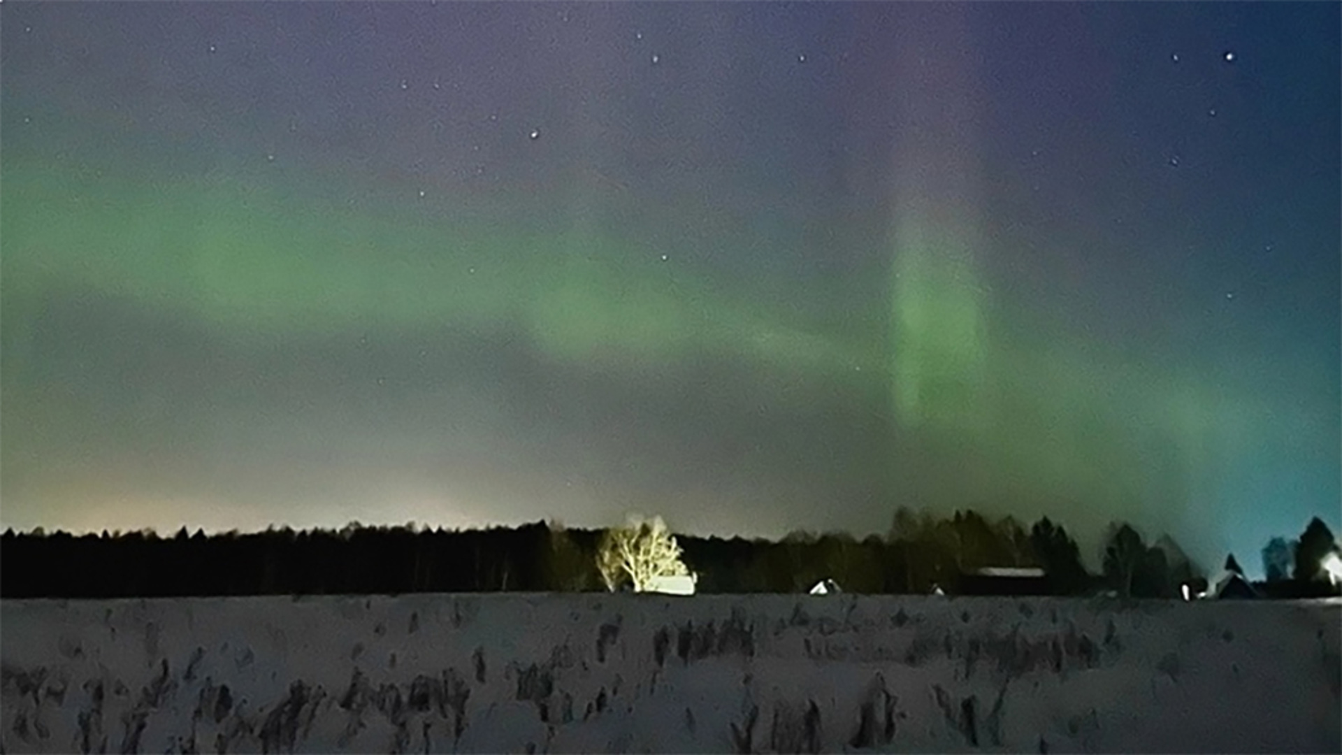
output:
<instances>
[{"instance_id":1,"label":"dark forest treeline along the horizon, excluding the brightly lit tree","mask_svg":"<svg viewBox=\"0 0 1342 755\"><path fill-rule=\"evenodd\" d=\"M1292 559L1296 551L1319 549L1325 535L1315 523L1303 548L1299 541L1287 548ZM172 537L8 531L0 537L0 598L596 591L603 590L600 536L599 529L545 523L468 531L350 524L212 536L183 528ZM982 567L1041 567L1039 591L1045 594L1176 598L1181 584L1201 576L1172 539L1147 545L1126 524L1111 527L1102 572L1091 574L1076 541L1047 517L1025 528L1012 517L990 521L972 510L938 519L900 509L887 536L863 540L805 532L781 541L676 540L699 592L804 592L832 579L849 592L927 594L939 587L956 594L962 576ZM1275 549L1274 558L1282 563ZM1308 575L1278 576L1283 595L1319 591Z\"/></svg>"}]
</instances>

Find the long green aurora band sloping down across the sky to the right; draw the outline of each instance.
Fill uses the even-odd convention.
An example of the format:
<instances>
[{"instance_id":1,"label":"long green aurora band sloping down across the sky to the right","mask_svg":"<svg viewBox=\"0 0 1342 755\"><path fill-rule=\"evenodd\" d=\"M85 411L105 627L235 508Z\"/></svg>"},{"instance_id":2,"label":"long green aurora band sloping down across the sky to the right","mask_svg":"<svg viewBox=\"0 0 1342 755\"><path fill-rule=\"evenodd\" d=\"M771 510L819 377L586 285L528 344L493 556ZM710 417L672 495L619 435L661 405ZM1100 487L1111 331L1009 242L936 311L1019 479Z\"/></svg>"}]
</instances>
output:
<instances>
[{"instance_id":1,"label":"long green aurora band sloping down across the sky to the right","mask_svg":"<svg viewBox=\"0 0 1342 755\"><path fill-rule=\"evenodd\" d=\"M969 249L980 242L933 232L918 212L892 230L887 302L862 305L864 328L852 328L766 305L747 286L723 292L658 263L656 243L590 224L433 218L376 199L350 207L254 172L162 177L129 165L5 150L7 400L28 395L44 297L72 289L203 324L224 349L502 326L557 364L603 373L723 355L747 365L761 400L788 411L809 411L817 396L890 396L872 411L888 412L895 439L880 473L892 496L986 510L1031 501L1082 525L1135 508L1176 529L1197 508L1172 496L1270 486L1275 468L1236 472L1240 459L1264 443L1290 455L1292 438L1327 431L1306 407L1145 367L1019 302L994 301L989 313ZM25 443L7 438L7 465ZM1074 509L1079 501L1096 513Z\"/></svg>"}]
</instances>

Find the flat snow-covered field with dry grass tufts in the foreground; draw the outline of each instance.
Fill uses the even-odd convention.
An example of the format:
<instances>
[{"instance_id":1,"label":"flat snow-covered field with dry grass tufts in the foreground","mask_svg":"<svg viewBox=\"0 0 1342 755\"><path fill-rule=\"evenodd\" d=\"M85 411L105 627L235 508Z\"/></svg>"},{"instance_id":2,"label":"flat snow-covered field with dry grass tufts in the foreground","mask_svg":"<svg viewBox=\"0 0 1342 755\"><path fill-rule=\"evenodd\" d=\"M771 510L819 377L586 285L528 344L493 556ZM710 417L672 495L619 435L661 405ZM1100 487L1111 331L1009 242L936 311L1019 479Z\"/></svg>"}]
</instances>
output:
<instances>
[{"instance_id":1,"label":"flat snow-covered field with dry grass tufts in the foreground","mask_svg":"<svg viewBox=\"0 0 1342 755\"><path fill-rule=\"evenodd\" d=\"M1338 602L0 605L4 752L1338 752Z\"/></svg>"}]
</instances>

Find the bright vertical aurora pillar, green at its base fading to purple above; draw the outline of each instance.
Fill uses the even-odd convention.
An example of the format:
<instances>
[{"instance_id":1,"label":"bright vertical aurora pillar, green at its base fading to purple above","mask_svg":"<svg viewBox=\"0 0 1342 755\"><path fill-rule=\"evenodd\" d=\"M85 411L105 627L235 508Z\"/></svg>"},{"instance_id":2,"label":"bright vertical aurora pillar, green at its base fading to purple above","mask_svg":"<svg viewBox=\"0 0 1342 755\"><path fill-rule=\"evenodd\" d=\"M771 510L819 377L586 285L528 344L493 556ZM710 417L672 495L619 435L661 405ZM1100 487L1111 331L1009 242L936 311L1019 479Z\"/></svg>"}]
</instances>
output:
<instances>
[{"instance_id":1,"label":"bright vertical aurora pillar, green at its base fading to purple above","mask_svg":"<svg viewBox=\"0 0 1342 755\"><path fill-rule=\"evenodd\" d=\"M981 451L990 407L974 259L977 86L964 9L918 11L926 23L900 26L894 43L900 138L888 234L891 404L902 427Z\"/></svg>"}]
</instances>

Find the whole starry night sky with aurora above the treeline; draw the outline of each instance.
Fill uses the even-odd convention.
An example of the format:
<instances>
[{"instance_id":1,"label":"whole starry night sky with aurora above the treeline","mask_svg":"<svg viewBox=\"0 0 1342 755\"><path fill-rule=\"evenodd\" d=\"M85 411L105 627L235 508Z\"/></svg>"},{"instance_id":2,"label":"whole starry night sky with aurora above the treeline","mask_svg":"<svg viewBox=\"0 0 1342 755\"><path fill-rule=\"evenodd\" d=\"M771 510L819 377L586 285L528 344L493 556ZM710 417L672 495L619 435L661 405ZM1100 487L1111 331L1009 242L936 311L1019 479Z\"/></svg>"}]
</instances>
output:
<instances>
[{"instance_id":1,"label":"whole starry night sky with aurora above the treeline","mask_svg":"<svg viewBox=\"0 0 1342 755\"><path fill-rule=\"evenodd\" d=\"M7 527L1342 529L1339 12L16 3Z\"/></svg>"}]
</instances>

